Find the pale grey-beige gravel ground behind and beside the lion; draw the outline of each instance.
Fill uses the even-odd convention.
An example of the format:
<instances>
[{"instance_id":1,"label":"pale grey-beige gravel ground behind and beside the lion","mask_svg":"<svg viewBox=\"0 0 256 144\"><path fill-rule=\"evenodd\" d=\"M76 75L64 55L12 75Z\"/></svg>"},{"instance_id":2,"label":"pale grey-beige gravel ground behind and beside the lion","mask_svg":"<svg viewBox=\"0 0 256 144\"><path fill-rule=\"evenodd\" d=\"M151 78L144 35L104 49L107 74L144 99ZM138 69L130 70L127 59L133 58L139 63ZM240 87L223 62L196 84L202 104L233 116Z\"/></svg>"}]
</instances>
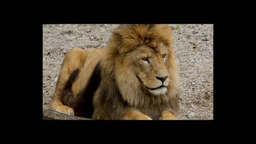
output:
<instances>
[{"instance_id":1,"label":"pale grey-beige gravel ground behind and beside the lion","mask_svg":"<svg viewBox=\"0 0 256 144\"><path fill-rule=\"evenodd\" d=\"M176 26L176 24L174 25ZM118 25L43 25L43 108L73 47L104 47ZM213 119L213 25L179 25L174 49L180 68L180 119Z\"/></svg>"}]
</instances>

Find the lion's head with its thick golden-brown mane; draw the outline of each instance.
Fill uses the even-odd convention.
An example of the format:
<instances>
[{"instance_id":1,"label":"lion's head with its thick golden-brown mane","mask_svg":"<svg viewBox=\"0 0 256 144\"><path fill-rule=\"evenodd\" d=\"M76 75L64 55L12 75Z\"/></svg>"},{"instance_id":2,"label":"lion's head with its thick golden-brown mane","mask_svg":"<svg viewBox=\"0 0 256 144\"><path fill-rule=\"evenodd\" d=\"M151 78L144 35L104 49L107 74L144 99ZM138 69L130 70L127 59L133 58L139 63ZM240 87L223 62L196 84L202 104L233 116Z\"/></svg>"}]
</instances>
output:
<instances>
[{"instance_id":1,"label":"lion's head with its thick golden-brown mane","mask_svg":"<svg viewBox=\"0 0 256 144\"><path fill-rule=\"evenodd\" d=\"M121 25L114 32L106 57L113 62L122 97L139 106L167 100L178 93L178 68L168 25Z\"/></svg>"}]
</instances>

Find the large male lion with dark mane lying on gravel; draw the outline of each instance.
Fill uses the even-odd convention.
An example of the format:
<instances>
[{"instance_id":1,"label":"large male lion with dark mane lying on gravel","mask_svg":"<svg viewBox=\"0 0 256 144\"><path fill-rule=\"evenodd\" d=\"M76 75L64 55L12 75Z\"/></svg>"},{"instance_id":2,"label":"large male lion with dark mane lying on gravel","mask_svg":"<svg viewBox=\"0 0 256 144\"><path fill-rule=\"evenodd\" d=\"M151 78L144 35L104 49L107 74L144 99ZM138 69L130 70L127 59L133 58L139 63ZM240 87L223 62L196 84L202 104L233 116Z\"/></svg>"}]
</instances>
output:
<instances>
[{"instance_id":1,"label":"large male lion with dark mane lying on gravel","mask_svg":"<svg viewBox=\"0 0 256 144\"><path fill-rule=\"evenodd\" d=\"M120 25L105 48L69 50L50 109L92 119L178 119L172 34L169 25Z\"/></svg>"}]
</instances>

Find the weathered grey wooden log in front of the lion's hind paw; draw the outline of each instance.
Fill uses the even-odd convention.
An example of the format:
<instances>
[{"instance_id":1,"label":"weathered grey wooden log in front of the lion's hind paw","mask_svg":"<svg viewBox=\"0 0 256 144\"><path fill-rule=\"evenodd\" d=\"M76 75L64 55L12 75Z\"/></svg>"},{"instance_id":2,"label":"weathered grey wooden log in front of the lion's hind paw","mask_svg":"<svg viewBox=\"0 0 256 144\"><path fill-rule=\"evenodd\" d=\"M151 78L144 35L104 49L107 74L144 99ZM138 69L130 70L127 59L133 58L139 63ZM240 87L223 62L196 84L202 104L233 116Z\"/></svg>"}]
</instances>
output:
<instances>
[{"instance_id":1,"label":"weathered grey wooden log in front of the lion's hind paw","mask_svg":"<svg viewBox=\"0 0 256 144\"><path fill-rule=\"evenodd\" d=\"M43 109L43 120L92 120L90 118L69 116L50 109Z\"/></svg>"}]
</instances>

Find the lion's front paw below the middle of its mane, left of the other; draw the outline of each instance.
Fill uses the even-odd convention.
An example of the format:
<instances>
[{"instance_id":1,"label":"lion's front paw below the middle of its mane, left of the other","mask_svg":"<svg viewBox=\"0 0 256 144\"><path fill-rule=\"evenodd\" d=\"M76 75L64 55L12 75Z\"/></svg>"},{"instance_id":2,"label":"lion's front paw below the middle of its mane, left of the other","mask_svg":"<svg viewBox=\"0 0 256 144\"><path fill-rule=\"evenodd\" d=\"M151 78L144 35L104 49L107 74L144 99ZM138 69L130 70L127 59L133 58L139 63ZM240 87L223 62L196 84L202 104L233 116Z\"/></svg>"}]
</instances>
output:
<instances>
[{"instance_id":1,"label":"lion's front paw below the middle of its mane, left of the other","mask_svg":"<svg viewBox=\"0 0 256 144\"><path fill-rule=\"evenodd\" d=\"M140 113L138 110L129 110L124 116L125 120L152 120L149 116Z\"/></svg>"}]
</instances>

